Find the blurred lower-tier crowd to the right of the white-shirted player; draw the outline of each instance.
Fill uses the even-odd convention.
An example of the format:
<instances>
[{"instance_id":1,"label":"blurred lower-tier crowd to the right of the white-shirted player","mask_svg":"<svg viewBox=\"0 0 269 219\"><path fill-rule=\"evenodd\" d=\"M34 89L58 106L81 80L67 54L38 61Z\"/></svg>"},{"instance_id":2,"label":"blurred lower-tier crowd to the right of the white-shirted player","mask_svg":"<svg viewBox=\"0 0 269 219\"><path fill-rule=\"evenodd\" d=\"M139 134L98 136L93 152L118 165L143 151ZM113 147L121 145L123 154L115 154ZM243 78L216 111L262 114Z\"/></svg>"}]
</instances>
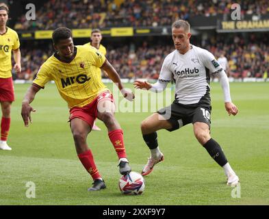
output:
<instances>
[{"instance_id":1,"label":"blurred lower-tier crowd to the right of the white-shirted player","mask_svg":"<svg viewBox=\"0 0 269 219\"><path fill-rule=\"evenodd\" d=\"M269 72L268 37L268 34L251 34L225 39L225 36L218 35L202 42L202 47L215 57L221 54L227 57L231 77L263 77L264 73L267 75Z\"/></svg>"}]
</instances>

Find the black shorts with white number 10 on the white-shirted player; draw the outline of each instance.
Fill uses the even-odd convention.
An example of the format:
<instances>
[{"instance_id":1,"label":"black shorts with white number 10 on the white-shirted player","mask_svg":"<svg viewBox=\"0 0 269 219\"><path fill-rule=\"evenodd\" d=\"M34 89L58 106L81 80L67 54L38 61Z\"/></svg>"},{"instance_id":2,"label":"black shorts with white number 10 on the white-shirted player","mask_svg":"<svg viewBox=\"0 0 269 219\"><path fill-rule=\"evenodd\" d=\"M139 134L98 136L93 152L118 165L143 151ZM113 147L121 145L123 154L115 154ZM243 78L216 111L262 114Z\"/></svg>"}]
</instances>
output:
<instances>
[{"instance_id":1,"label":"black shorts with white number 10 on the white-shirted player","mask_svg":"<svg viewBox=\"0 0 269 219\"><path fill-rule=\"evenodd\" d=\"M167 130L175 131L184 125L196 122L206 123L210 129L211 110L211 105L207 103L183 105L174 101L170 106L158 110L157 113L164 116L172 125L172 129Z\"/></svg>"}]
</instances>

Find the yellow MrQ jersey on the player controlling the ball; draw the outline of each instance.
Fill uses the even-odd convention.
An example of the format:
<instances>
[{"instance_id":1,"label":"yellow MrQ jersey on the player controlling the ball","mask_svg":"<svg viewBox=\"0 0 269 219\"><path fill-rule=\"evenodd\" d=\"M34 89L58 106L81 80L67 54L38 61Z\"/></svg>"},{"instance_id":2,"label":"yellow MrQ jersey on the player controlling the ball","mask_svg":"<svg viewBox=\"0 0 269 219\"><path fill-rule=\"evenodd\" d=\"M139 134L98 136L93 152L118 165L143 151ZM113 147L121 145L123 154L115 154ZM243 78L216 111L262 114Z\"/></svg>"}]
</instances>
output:
<instances>
[{"instance_id":1,"label":"yellow MrQ jersey on the player controlling the ball","mask_svg":"<svg viewBox=\"0 0 269 219\"><path fill-rule=\"evenodd\" d=\"M44 88L48 81L55 81L68 107L83 107L90 103L99 92L107 90L99 77L105 56L94 47L76 46L75 57L61 62L54 54L42 64L33 83Z\"/></svg>"}]
</instances>

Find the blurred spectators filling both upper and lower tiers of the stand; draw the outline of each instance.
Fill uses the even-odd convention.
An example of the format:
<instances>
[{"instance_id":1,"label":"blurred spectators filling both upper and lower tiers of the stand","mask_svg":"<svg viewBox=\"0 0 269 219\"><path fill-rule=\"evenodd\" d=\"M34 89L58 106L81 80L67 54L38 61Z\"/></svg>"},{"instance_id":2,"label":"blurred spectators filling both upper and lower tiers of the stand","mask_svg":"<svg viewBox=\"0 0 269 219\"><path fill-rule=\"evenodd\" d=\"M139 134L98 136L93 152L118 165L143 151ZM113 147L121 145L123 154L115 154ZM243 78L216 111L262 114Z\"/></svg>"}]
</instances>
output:
<instances>
[{"instance_id":1,"label":"blurred spectators filling both upper and lower tiers of the stand","mask_svg":"<svg viewBox=\"0 0 269 219\"><path fill-rule=\"evenodd\" d=\"M36 21L27 21L25 15L22 14L14 19L16 20L14 29L24 33L25 31L55 29L60 26L75 29L170 27L171 21L177 18L190 20L191 23L200 18L212 18L219 14L224 16L231 13L232 3L231 0L49 0L42 1L42 5L36 11L38 18ZM241 6L243 18L247 15L269 17L267 0L246 0L237 1L237 3ZM203 36L205 31L200 31L191 42L211 51L216 58L221 53L225 53L229 60L230 77L263 77L268 72L268 31L219 34L210 30L206 37ZM164 57L173 50L172 39L169 35L170 33L166 38L162 34L151 38L144 36L143 40L138 40L136 36L133 36L125 40L123 44L114 44L111 41L112 38L108 37L103 39L103 44L107 47L107 58L121 77L156 79ZM84 42L76 42L76 44L84 44L88 42L87 40L88 38L84 38ZM23 40L21 53L22 73L17 78L31 80L42 62L53 54L53 48L49 40Z\"/></svg>"}]
</instances>

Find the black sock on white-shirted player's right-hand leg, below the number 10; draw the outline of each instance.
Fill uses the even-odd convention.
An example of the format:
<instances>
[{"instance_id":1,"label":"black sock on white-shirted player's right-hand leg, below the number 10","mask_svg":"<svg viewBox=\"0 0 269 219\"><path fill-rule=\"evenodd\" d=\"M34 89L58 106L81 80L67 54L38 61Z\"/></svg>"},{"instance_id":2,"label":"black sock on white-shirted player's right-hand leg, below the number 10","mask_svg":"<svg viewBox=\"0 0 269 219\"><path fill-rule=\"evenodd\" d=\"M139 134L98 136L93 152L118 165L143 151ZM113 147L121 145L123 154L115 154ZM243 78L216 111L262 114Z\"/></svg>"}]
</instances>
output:
<instances>
[{"instance_id":1,"label":"black sock on white-shirted player's right-hand leg, below the number 10","mask_svg":"<svg viewBox=\"0 0 269 219\"><path fill-rule=\"evenodd\" d=\"M218 142L216 142L213 138L208 140L208 142L206 142L203 146L218 165L225 166L225 164L227 164L228 161L220 147L220 144L218 144Z\"/></svg>"}]
</instances>

